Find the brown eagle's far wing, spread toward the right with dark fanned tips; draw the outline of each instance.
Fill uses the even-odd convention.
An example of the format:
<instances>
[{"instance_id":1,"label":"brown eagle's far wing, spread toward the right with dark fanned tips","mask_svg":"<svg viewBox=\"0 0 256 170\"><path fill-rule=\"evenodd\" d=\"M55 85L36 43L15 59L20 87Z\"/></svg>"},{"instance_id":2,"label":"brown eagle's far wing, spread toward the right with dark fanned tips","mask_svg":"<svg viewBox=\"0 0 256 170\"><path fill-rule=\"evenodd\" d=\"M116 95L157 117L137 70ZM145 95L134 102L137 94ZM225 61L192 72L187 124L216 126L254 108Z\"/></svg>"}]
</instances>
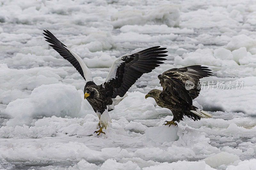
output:
<instances>
[{"instance_id":1,"label":"brown eagle's far wing, spread toward the right with dark fanned tips","mask_svg":"<svg viewBox=\"0 0 256 170\"><path fill-rule=\"evenodd\" d=\"M208 67L194 65L182 68L172 68L165 71L162 75L180 80L183 83L183 86L185 86L186 81L192 81L195 86L193 89L188 90L188 92L193 100L199 95L201 90L199 79L212 76L212 72L210 71L211 70L208 69Z\"/></svg>"}]
</instances>

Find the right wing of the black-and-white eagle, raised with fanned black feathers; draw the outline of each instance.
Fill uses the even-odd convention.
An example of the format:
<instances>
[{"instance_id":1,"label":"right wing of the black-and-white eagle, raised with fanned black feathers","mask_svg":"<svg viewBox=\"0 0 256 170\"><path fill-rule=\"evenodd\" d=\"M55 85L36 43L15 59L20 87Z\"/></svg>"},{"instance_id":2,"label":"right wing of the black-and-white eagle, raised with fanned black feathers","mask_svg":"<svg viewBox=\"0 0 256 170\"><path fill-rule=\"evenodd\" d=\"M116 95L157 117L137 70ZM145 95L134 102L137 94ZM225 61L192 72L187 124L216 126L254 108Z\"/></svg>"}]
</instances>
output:
<instances>
[{"instance_id":1,"label":"right wing of the black-and-white eagle, raised with fanned black feathers","mask_svg":"<svg viewBox=\"0 0 256 170\"><path fill-rule=\"evenodd\" d=\"M151 47L131 55L117 58L113 63L107 79L104 83L107 95L111 98L123 97L128 89L137 81L142 74L149 73L162 64L166 48L160 46Z\"/></svg>"}]
</instances>

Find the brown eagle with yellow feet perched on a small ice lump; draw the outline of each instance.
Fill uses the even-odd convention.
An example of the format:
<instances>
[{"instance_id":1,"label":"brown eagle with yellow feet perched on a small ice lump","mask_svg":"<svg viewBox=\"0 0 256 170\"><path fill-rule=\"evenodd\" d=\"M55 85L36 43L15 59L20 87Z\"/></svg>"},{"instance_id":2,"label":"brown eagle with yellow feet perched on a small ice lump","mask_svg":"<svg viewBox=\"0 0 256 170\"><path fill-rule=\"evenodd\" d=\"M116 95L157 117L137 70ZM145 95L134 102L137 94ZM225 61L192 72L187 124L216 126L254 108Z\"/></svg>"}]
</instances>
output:
<instances>
[{"instance_id":1,"label":"brown eagle with yellow feet perched on a small ice lump","mask_svg":"<svg viewBox=\"0 0 256 170\"><path fill-rule=\"evenodd\" d=\"M165 121L164 125L169 125L169 127L171 124L177 125L175 121L180 122L184 115L194 121L212 116L192 104L192 100L199 95L201 90L199 79L212 76L210 71L208 67L195 65L172 68L158 75L163 90L150 90L145 98L152 97L158 106L172 111L173 119ZM190 88L185 87L188 84L191 85Z\"/></svg>"}]
</instances>

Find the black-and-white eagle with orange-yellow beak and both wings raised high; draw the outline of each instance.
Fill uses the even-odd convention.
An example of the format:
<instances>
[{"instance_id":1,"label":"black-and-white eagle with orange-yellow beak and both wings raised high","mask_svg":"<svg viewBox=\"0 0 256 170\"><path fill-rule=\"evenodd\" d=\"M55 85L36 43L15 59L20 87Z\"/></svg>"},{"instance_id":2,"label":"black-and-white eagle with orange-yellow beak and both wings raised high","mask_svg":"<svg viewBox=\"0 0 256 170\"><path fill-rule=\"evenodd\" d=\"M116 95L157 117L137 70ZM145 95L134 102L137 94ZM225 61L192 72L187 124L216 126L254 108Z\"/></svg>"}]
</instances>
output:
<instances>
[{"instance_id":1,"label":"black-and-white eagle with orange-yellow beak and both wings raised high","mask_svg":"<svg viewBox=\"0 0 256 170\"><path fill-rule=\"evenodd\" d=\"M136 52L134 54L126 54L117 58L113 63L105 82L96 85L92 80L92 73L84 64L82 58L72 52L66 45L61 43L50 31L44 30L45 39L54 50L56 50L63 58L68 60L85 80L84 99L91 104L93 110L98 115L100 121L98 127L102 132L102 128L107 128L108 122L111 122L108 111L113 110L113 105L118 103L117 96L124 97L128 89L137 81L142 74L149 73L153 69L162 64L166 48L160 46L151 47L146 50ZM113 102L114 100L114 102ZM94 132L94 133L95 133ZM105 133L104 133L105 134Z\"/></svg>"}]
</instances>

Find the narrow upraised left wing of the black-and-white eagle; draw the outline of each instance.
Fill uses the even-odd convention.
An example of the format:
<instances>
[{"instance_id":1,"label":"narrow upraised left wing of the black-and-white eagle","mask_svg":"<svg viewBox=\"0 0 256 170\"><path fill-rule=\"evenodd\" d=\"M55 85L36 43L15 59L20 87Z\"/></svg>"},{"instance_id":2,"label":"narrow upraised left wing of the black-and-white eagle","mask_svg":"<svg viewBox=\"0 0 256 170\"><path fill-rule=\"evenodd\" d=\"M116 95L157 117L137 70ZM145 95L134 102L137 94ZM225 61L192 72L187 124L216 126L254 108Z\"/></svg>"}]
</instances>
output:
<instances>
[{"instance_id":1,"label":"narrow upraised left wing of the black-and-white eagle","mask_svg":"<svg viewBox=\"0 0 256 170\"><path fill-rule=\"evenodd\" d=\"M87 66L84 64L83 60L74 52L70 51L66 45L61 43L50 31L44 30L45 41L51 43L49 44L54 50L56 50L64 59L68 60L76 70L83 76L84 80L92 81L92 74Z\"/></svg>"}]
</instances>

